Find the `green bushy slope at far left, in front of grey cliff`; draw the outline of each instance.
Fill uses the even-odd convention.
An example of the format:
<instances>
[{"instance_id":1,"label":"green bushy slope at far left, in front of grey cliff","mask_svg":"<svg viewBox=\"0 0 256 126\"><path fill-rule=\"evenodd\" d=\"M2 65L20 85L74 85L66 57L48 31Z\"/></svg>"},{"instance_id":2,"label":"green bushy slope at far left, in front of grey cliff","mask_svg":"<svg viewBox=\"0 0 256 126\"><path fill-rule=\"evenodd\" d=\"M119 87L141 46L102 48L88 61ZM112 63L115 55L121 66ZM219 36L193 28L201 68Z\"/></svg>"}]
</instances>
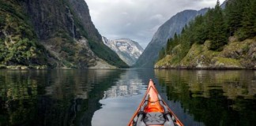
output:
<instances>
[{"instance_id":1,"label":"green bushy slope at far left, in front of grey cliff","mask_svg":"<svg viewBox=\"0 0 256 126\"><path fill-rule=\"evenodd\" d=\"M46 65L46 50L16 1L0 1L0 64Z\"/></svg>"}]
</instances>

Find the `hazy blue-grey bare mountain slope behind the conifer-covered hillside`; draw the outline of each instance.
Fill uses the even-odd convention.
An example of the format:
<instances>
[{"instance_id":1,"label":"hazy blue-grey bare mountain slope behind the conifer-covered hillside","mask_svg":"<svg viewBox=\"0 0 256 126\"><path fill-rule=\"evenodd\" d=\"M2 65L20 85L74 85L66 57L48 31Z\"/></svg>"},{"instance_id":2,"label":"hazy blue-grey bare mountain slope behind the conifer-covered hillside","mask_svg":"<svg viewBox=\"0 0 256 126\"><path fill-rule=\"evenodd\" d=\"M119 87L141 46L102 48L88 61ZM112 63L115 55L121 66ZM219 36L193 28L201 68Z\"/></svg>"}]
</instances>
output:
<instances>
[{"instance_id":1,"label":"hazy blue-grey bare mountain slope behind the conifer-covered hillside","mask_svg":"<svg viewBox=\"0 0 256 126\"><path fill-rule=\"evenodd\" d=\"M175 32L179 34L183 27L193 20L194 17L198 15L203 15L207 12L208 9L197 10L184 10L183 12L177 13L175 16L171 17L163 25L158 28L156 33L153 35L151 42L145 48L145 51L141 54L141 57L138 58L135 67L153 67L155 61L157 60L159 51L167 43L167 40Z\"/></svg>"}]
</instances>

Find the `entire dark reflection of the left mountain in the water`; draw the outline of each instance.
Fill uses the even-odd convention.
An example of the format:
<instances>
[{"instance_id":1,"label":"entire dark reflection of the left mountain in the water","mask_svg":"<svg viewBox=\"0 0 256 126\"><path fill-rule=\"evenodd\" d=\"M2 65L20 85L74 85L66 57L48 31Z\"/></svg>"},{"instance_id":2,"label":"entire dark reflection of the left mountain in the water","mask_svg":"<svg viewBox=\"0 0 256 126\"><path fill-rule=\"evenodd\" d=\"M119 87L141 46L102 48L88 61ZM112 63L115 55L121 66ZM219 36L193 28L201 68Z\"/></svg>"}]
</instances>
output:
<instances>
[{"instance_id":1,"label":"entire dark reflection of the left mountain in the water","mask_svg":"<svg viewBox=\"0 0 256 126\"><path fill-rule=\"evenodd\" d=\"M0 125L91 125L122 70L0 71Z\"/></svg>"}]
</instances>

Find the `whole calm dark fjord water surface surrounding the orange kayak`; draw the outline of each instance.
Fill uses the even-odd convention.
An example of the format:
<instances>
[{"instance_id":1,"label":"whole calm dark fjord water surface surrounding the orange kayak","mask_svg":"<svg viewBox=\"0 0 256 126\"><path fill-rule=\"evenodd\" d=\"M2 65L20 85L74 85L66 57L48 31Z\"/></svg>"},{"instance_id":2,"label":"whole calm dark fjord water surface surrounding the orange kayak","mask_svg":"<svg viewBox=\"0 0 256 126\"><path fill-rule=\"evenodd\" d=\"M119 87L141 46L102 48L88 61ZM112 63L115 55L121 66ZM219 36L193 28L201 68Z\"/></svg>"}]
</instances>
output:
<instances>
[{"instance_id":1,"label":"whole calm dark fjord water surface surrounding the orange kayak","mask_svg":"<svg viewBox=\"0 0 256 126\"><path fill-rule=\"evenodd\" d=\"M149 78L185 125L255 125L256 71L0 70L0 126L126 125Z\"/></svg>"}]
</instances>

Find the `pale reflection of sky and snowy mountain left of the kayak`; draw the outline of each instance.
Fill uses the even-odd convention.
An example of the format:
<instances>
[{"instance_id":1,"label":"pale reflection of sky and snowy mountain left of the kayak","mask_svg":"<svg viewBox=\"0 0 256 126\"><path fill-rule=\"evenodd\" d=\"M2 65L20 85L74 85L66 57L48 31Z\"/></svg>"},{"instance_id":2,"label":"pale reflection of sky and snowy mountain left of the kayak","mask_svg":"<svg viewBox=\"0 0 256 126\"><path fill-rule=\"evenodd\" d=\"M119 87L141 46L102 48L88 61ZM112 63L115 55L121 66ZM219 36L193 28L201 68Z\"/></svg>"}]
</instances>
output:
<instances>
[{"instance_id":1,"label":"pale reflection of sky and snowy mountain left of the kayak","mask_svg":"<svg viewBox=\"0 0 256 126\"><path fill-rule=\"evenodd\" d=\"M103 104L92 117L93 126L126 125L141 102L146 84L138 76L141 69L126 69L115 85L104 91Z\"/></svg>"}]
</instances>

